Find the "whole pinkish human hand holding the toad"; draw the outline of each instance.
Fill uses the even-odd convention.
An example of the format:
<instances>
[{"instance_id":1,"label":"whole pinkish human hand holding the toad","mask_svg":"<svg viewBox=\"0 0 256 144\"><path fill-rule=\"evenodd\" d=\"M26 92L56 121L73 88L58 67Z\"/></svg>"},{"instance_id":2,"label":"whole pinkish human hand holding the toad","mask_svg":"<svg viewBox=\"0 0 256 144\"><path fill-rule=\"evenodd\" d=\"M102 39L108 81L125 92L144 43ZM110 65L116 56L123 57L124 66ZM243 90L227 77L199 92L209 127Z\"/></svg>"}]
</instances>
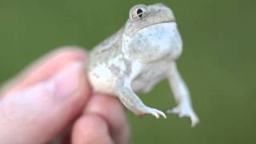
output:
<instances>
[{"instance_id":1,"label":"whole pinkish human hand holding the toad","mask_svg":"<svg viewBox=\"0 0 256 144\"><path fill-rule=\"evenodd\" d=\"M4 84L0 143L128 143L122 104L91 93L84 62L82 50L62 48Z\"/></svg>"}]
</instances>

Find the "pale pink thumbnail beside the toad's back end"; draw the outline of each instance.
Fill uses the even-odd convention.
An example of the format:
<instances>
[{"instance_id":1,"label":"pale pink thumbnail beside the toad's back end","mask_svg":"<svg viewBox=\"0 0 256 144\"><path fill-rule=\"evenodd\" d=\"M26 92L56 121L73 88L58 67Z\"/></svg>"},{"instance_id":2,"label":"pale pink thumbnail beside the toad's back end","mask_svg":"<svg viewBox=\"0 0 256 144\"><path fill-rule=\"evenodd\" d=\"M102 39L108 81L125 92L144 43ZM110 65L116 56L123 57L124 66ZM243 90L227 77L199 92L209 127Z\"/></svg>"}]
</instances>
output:
<instances>
[{"instance_id":1,"label":"pale pink thumbnail beside the toad's back end","mask_svg":"<svg viewBox=\"0 0 256 144\"><path fill-rule=\"evenodd\" d=\"M83 72L80 62L72 63L64 68L53 78L54 95L58 98L66 98L74 94L79 89Z\"/></svg>"}]
</instances>

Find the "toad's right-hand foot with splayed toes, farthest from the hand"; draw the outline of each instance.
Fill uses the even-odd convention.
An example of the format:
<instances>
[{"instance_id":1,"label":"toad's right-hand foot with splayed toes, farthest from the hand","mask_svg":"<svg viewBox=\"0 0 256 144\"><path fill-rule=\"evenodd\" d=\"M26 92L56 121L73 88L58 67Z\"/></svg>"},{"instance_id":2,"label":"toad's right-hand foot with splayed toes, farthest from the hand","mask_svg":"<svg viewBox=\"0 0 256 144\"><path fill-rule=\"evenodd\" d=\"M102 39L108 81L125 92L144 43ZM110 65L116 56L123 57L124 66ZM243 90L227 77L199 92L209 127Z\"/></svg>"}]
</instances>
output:
<instances>
[{"instance_id":1,"label":"toad's right-hand foot with splayed toes, farthest from the hand","mask_svg":"<svg viewBox=\"0 0 256 144\"><path fill-rule=\"evenodd\" d=\"M194 113L194 110L191 106L177 106L173 109L167 109L167 114L178 114L180 118L182 117L189 117L191 120L191 126L194 127L199 122L199 118L197 114Z\"/></svg>"}]
</instances>

